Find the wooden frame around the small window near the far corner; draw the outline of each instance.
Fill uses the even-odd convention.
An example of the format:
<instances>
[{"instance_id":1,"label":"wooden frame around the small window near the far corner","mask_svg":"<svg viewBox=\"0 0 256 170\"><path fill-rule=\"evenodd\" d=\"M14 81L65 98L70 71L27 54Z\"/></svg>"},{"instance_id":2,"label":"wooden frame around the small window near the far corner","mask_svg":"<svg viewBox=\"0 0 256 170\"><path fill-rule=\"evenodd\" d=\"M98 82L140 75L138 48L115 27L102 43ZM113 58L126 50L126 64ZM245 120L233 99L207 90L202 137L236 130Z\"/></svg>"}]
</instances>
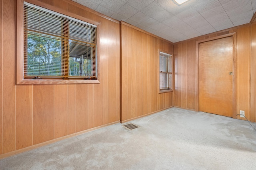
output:
<instances>
[{"instance_id":1,"label":"wooden frame around the small window near the far corner","mask_svg":"<svg viewBox=\"0 0 256 170\"><path fill-rule=\"evenodd\" d=\"M170 55L170 57L171 57L170 61L171 61L171 66L172 66L171 72L170 72L170 74L172 74L172 84L171 84L171 87L169 89L163 89L163 90L160 90L160 61L159 61L159 59L160 59L160 53L161 52ZM174 77L173 77L173 70L174 70L173 60L174 59L173 58L174 58L173 54L168 52L168 51L164 51L164 50L159 50L158 51L158 90L159 90L158 93L159 94L160 93L173 92L173 80L174 80Z\"/></svg>"}]
</instances>

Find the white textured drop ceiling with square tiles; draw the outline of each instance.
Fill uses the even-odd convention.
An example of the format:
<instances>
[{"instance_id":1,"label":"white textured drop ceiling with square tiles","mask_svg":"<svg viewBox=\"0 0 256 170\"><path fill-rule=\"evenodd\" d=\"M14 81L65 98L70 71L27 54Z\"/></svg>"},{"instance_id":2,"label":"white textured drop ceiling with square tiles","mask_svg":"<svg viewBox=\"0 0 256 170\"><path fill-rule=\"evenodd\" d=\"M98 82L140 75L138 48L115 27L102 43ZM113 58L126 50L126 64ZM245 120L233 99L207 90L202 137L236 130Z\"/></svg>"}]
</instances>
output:
<instances>
[{"instance_id":1,"label":"white textured drop ceiling with square tiles","mask_svg":"<svg viewBox=\"0 0 256 170\"><path fill-rule=\"evenodd\" d=\"M256 0L73 0L173 43L249 23Z\"/></svg>"}]
</instances>

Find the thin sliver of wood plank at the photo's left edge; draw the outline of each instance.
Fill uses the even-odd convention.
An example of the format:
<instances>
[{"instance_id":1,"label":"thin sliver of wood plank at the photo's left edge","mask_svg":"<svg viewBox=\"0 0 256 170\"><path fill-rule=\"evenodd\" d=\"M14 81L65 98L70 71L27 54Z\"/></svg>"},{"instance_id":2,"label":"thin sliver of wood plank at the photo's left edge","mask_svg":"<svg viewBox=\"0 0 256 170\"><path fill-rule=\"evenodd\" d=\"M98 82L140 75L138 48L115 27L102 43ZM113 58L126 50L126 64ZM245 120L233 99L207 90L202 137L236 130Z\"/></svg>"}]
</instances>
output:
<instances>
[{"instance_id":1,"label":"thin sliver of wood plank at the photo's left edge","mask_svg":"<svg viewBox=\"0 0 256 170\"><path fill-rule=\"evenodd\" d=\"M0 68L3 67L3 1L0 0ZM0 154L3 153L3 70L0 69Z\"/></svg>"}]
</instances>

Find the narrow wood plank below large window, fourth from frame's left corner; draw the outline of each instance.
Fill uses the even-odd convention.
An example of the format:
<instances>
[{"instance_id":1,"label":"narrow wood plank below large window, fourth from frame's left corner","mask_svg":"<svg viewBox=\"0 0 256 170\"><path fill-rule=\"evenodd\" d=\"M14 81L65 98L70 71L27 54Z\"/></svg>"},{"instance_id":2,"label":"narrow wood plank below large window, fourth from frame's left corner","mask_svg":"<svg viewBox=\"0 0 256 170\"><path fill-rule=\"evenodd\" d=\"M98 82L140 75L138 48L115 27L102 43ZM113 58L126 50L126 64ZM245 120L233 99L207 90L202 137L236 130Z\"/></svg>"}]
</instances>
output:
<instances>
[{"instance_id":1,"label":"narrow wood plank below large window, fourth from frame's left corner","mask_svg":"<svg viewBox=\"0 0 256 170\"><path fill-rule=\"evenodd\" d=\"M68 135L76 132L76 85L68 84Z\"/></svg>"}]
</instances>

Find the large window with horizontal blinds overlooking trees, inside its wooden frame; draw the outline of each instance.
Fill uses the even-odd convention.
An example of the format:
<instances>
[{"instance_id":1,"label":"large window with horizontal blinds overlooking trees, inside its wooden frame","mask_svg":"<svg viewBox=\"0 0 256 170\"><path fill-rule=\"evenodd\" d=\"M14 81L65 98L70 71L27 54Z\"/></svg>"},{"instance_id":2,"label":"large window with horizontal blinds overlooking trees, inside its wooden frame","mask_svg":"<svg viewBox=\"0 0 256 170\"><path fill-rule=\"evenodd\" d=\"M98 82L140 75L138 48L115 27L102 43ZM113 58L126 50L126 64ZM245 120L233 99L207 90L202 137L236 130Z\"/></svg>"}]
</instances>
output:
<instances>
[{"instance_id":1,"label":"large window with horizontal blinds overlooking trees, inside its wooden frame","mask_svg":"<svg viewBox=\"0 0 256 170\"><path fill-rule=\"evenodd\" d=\"M97 79L96 25L24 2L24 79Z\"/></svg>"}]
</instances>

